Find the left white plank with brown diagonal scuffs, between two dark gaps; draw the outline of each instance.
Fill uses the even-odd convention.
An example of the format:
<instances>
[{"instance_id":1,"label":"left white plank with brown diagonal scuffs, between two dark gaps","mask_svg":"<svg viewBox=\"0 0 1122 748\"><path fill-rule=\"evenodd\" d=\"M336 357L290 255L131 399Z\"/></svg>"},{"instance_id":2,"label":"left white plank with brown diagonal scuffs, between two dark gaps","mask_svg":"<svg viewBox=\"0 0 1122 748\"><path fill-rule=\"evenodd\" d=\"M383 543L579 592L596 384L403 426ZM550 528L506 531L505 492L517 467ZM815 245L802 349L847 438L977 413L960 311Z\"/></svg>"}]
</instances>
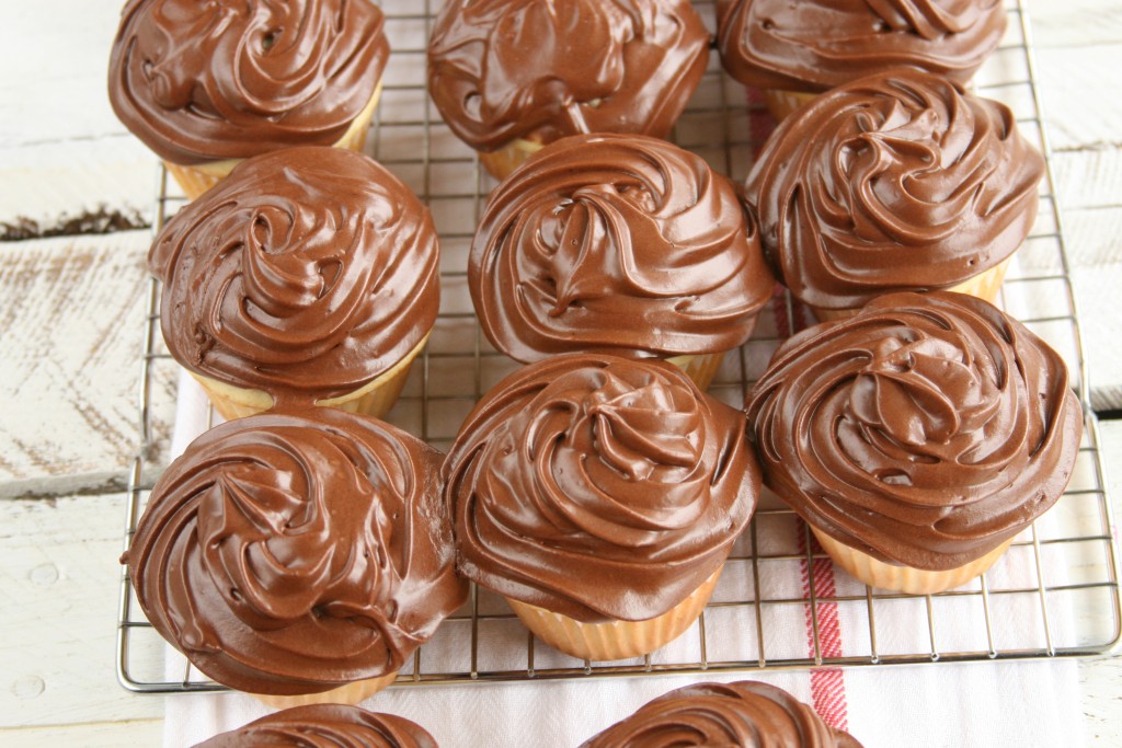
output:
<instances>
[{"instance_id":1,"label":"left white plank with brown diagonal scuffs, between two dark gaps","mask_svg":"<svg viewBox=\"0 0 1122 748\"><path fill-rule=\"evenodd\" d=\"M0 481L89 473L100 486L129 464L149 242L135 231L0 244ZM158 401L171 403L166 379Z\"/></svg>"}]
</instances>

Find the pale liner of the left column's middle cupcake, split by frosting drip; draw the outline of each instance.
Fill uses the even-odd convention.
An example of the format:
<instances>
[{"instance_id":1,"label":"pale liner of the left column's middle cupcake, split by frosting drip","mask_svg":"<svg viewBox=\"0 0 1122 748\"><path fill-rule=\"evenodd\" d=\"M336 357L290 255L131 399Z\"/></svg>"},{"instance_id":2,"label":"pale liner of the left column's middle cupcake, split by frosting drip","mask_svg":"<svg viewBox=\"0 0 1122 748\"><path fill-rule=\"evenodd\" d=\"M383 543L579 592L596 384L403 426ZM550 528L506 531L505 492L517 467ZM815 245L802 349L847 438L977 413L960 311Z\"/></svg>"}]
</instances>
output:
<instances>
[{"instance_id":1,"label":"pale liner of the left column's middle cupcake, split by frosting drip","mask_svg":"<svg viewBox=\"0 0 1122 748\"><path fill-rule=\"evenodd\" d=\"M315 400L315 405L339 408L340 410L374 416L376 418L384 417L397 401L402 388L405 387L405 382L408 380L410 367L424 349L425 343L429 342L431 332L426 332L421 342L413 347L413 350L377 378L352 393ZM274 405L273 397L264 390L237 387L194 371L188 371L187 373L194 377L202 386L214 409L227 421L264 413Z\"/></svg>"}]
</instances>

